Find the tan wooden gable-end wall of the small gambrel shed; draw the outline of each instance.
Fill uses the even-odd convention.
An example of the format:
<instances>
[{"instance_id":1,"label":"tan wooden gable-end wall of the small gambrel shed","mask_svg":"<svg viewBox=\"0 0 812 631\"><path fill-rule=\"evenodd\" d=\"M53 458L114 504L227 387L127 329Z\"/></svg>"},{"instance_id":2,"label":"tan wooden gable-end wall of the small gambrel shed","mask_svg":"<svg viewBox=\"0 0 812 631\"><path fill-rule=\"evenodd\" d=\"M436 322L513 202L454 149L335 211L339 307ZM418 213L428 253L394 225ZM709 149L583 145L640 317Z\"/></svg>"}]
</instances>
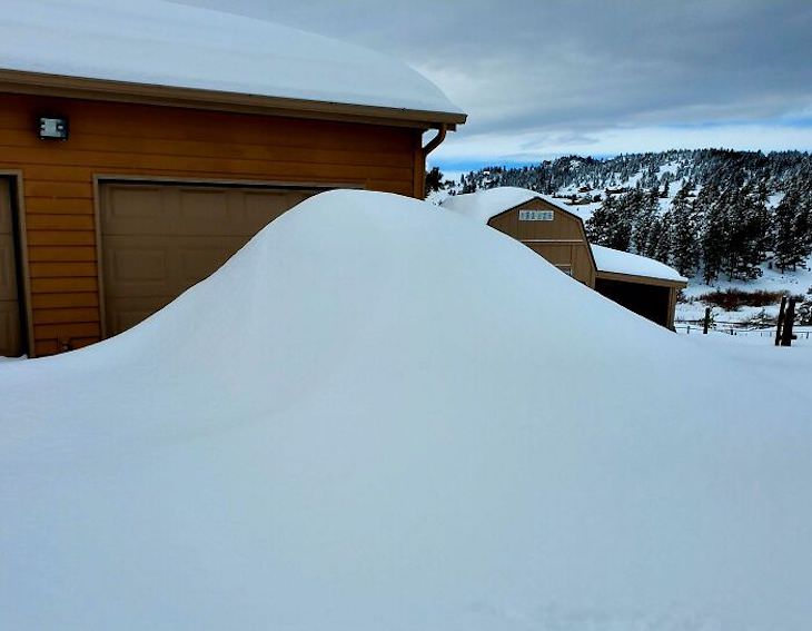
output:
<instances>
[{"instance_id":1,"label":"tan wooden gable-end wall of the small gambrel shed","mask_svg":"<svg viewBox=\"0 0 812 631\"><path fill-rule=\"evenodd\" d=\"M552 210L552 221L522 221L521 210ZM590 287L595 286L595 264L586 241L583 223L578 217L547 204L532 199L497 215L488 225L522 241L560 269Z\"/></svg>"}]
</instances>

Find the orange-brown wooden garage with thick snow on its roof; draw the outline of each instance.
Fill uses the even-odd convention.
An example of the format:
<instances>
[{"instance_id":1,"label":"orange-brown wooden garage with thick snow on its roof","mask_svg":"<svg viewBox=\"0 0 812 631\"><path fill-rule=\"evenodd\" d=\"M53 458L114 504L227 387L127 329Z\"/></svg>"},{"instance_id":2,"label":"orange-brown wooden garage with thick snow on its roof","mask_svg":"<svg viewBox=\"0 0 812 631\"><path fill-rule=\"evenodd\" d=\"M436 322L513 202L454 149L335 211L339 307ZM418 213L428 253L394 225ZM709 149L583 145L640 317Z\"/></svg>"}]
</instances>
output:
<instances>
[{"instance_id":1,"label":"orange-brown wooden garage with thick snow on its roof","mask_svg":"<svg viewBox=\"0 0 812 631\"><path fill-rule=\"evenodd\" d=\"M427 152L466 118L404 63L260 20L4 7L0 355L126 331L318 191L423 197Z\"/></svg>"}]
</instances>

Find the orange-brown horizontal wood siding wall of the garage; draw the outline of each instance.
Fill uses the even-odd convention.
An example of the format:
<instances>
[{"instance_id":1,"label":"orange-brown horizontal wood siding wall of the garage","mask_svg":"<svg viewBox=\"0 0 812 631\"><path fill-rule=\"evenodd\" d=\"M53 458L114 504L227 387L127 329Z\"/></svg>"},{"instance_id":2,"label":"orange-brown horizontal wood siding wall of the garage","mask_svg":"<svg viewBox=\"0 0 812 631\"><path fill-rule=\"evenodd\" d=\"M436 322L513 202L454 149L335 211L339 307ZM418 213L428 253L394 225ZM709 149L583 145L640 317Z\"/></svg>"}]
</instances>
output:
<instances>
[{"instance_id":1,"label":"orange-brown horizontal wood siding wall of the garage","mask_svg":"<svg viewBox=\"0 0 812 631\"><path fill-rule=\"evenodd\" d=\"M39 116L67 117L67 141ZM417 129L0 93L0 170L21 172L37 355L101 334L95 176L422 193Z\"/></svg>"}]
</instances>

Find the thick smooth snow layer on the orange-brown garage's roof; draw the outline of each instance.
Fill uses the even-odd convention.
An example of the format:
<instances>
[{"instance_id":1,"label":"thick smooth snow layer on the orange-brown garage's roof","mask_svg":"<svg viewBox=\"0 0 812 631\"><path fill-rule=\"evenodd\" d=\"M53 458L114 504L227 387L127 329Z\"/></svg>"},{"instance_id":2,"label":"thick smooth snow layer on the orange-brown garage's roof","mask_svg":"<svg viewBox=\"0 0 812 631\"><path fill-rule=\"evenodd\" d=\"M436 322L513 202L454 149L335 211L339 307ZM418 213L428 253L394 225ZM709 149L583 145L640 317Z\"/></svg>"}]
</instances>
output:
<instances>
[{"instance_id":1,"label":"thick smooth snow layer on the orange-brown garage's roof","mask_svg":"<svg viewBox=\"0 0 812 631\"><path fill-rule=\"evenodd\" d=\"M267 21L159 0L0 0L0 68L459 112L405 63Z\"/></svg>"}]
</instances>

